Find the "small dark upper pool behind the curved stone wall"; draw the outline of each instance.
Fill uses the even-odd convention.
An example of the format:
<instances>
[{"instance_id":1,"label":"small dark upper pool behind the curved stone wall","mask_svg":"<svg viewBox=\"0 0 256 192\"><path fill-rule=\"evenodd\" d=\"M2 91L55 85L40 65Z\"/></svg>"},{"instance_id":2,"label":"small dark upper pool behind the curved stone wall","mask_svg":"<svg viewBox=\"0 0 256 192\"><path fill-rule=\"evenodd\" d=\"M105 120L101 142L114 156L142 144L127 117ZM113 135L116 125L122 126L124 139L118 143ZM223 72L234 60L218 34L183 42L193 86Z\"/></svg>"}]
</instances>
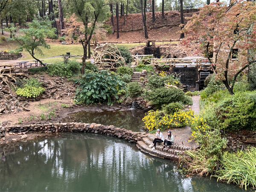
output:
<instances>
[{"instance_id":1,"label":"small dark upper pool behind the curved stone wall","mask_svg":"<svg viewBox=\"0 0 256 192\"><path fill-rule=\"evenodd\" d=\"M115 127L125 128L131 131L142 131L144 126L142 118L145 116L143 111L127 110L127 111L79 111L69 113L62 122L83 122L97 123L102 125L114 125Z\"/></svg>"}]
</instances>

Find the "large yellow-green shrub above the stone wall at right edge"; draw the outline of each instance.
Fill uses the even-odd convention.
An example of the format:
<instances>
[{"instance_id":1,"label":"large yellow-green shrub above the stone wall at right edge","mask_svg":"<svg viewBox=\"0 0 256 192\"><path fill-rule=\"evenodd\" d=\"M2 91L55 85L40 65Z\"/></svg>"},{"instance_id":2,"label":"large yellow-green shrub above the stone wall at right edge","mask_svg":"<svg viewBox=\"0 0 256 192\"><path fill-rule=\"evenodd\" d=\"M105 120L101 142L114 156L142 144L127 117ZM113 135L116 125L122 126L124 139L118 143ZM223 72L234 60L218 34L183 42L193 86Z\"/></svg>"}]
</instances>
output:
<instances>
[{"instance_id":1,"label":"large yellow-green shrub above the stone wall at right edge","mask_svg":"<svg viewBox=\"0 0 256 192\"><path fill-rule=\"evenodd\" d=\"M256 92L235 93L215 105L205 106L205 118L213 128L227 131L255 130Z\"/></svg>"}]
</instances>

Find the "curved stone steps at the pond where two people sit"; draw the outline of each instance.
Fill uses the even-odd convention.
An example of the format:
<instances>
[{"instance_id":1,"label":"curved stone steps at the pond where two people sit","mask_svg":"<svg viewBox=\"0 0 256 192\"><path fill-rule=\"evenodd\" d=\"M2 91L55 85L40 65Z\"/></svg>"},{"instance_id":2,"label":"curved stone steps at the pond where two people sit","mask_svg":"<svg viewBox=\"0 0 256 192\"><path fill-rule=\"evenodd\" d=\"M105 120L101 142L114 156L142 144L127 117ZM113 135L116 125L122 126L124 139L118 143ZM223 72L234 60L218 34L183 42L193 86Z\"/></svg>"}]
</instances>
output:
<instances>
[{"instance_id":1,"label":"curved stone steps at the pond where two people sit","mask_svg":"<svg viewBox=\"0 0 256 192\"><path fill-rule=\"evenodd\" d=\"M156 149L151 150L151 147L148 147L154 140L154 136L152 134L148 134L147 137L143 137L142 141L137 142L137 147L154 157L159 157L162 159L170 159L170 160L179 160L180 155L184 154L186 150L191 151L192 148L185 145L172 145L171 148L167 151L167 148L162 149L163 143L157 143Z\"/></svg>"}]
</instances>

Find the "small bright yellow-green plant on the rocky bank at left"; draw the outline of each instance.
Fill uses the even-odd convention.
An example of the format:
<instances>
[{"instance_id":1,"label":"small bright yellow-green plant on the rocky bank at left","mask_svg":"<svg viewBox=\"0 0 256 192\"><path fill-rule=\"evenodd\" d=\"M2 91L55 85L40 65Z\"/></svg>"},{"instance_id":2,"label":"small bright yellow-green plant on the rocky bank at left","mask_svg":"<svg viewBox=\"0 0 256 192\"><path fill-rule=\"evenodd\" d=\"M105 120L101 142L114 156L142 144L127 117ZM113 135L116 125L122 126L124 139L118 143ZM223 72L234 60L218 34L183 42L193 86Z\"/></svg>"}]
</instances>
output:
<instances>
[{"instance_id":1,"label":"small bright yellow-green plant on the rocky bank at left","mask_svg":"<svg viewBox=\"0 0 256 192\"><path fill-rule=\"evenodd\" d=\"M44 93L43 87L32 87L27 86L23 88L18 88L16 90L17 96L24 96L26 98L35 98L41 95L41 93Z\"/></svg>"}]
</instances>

